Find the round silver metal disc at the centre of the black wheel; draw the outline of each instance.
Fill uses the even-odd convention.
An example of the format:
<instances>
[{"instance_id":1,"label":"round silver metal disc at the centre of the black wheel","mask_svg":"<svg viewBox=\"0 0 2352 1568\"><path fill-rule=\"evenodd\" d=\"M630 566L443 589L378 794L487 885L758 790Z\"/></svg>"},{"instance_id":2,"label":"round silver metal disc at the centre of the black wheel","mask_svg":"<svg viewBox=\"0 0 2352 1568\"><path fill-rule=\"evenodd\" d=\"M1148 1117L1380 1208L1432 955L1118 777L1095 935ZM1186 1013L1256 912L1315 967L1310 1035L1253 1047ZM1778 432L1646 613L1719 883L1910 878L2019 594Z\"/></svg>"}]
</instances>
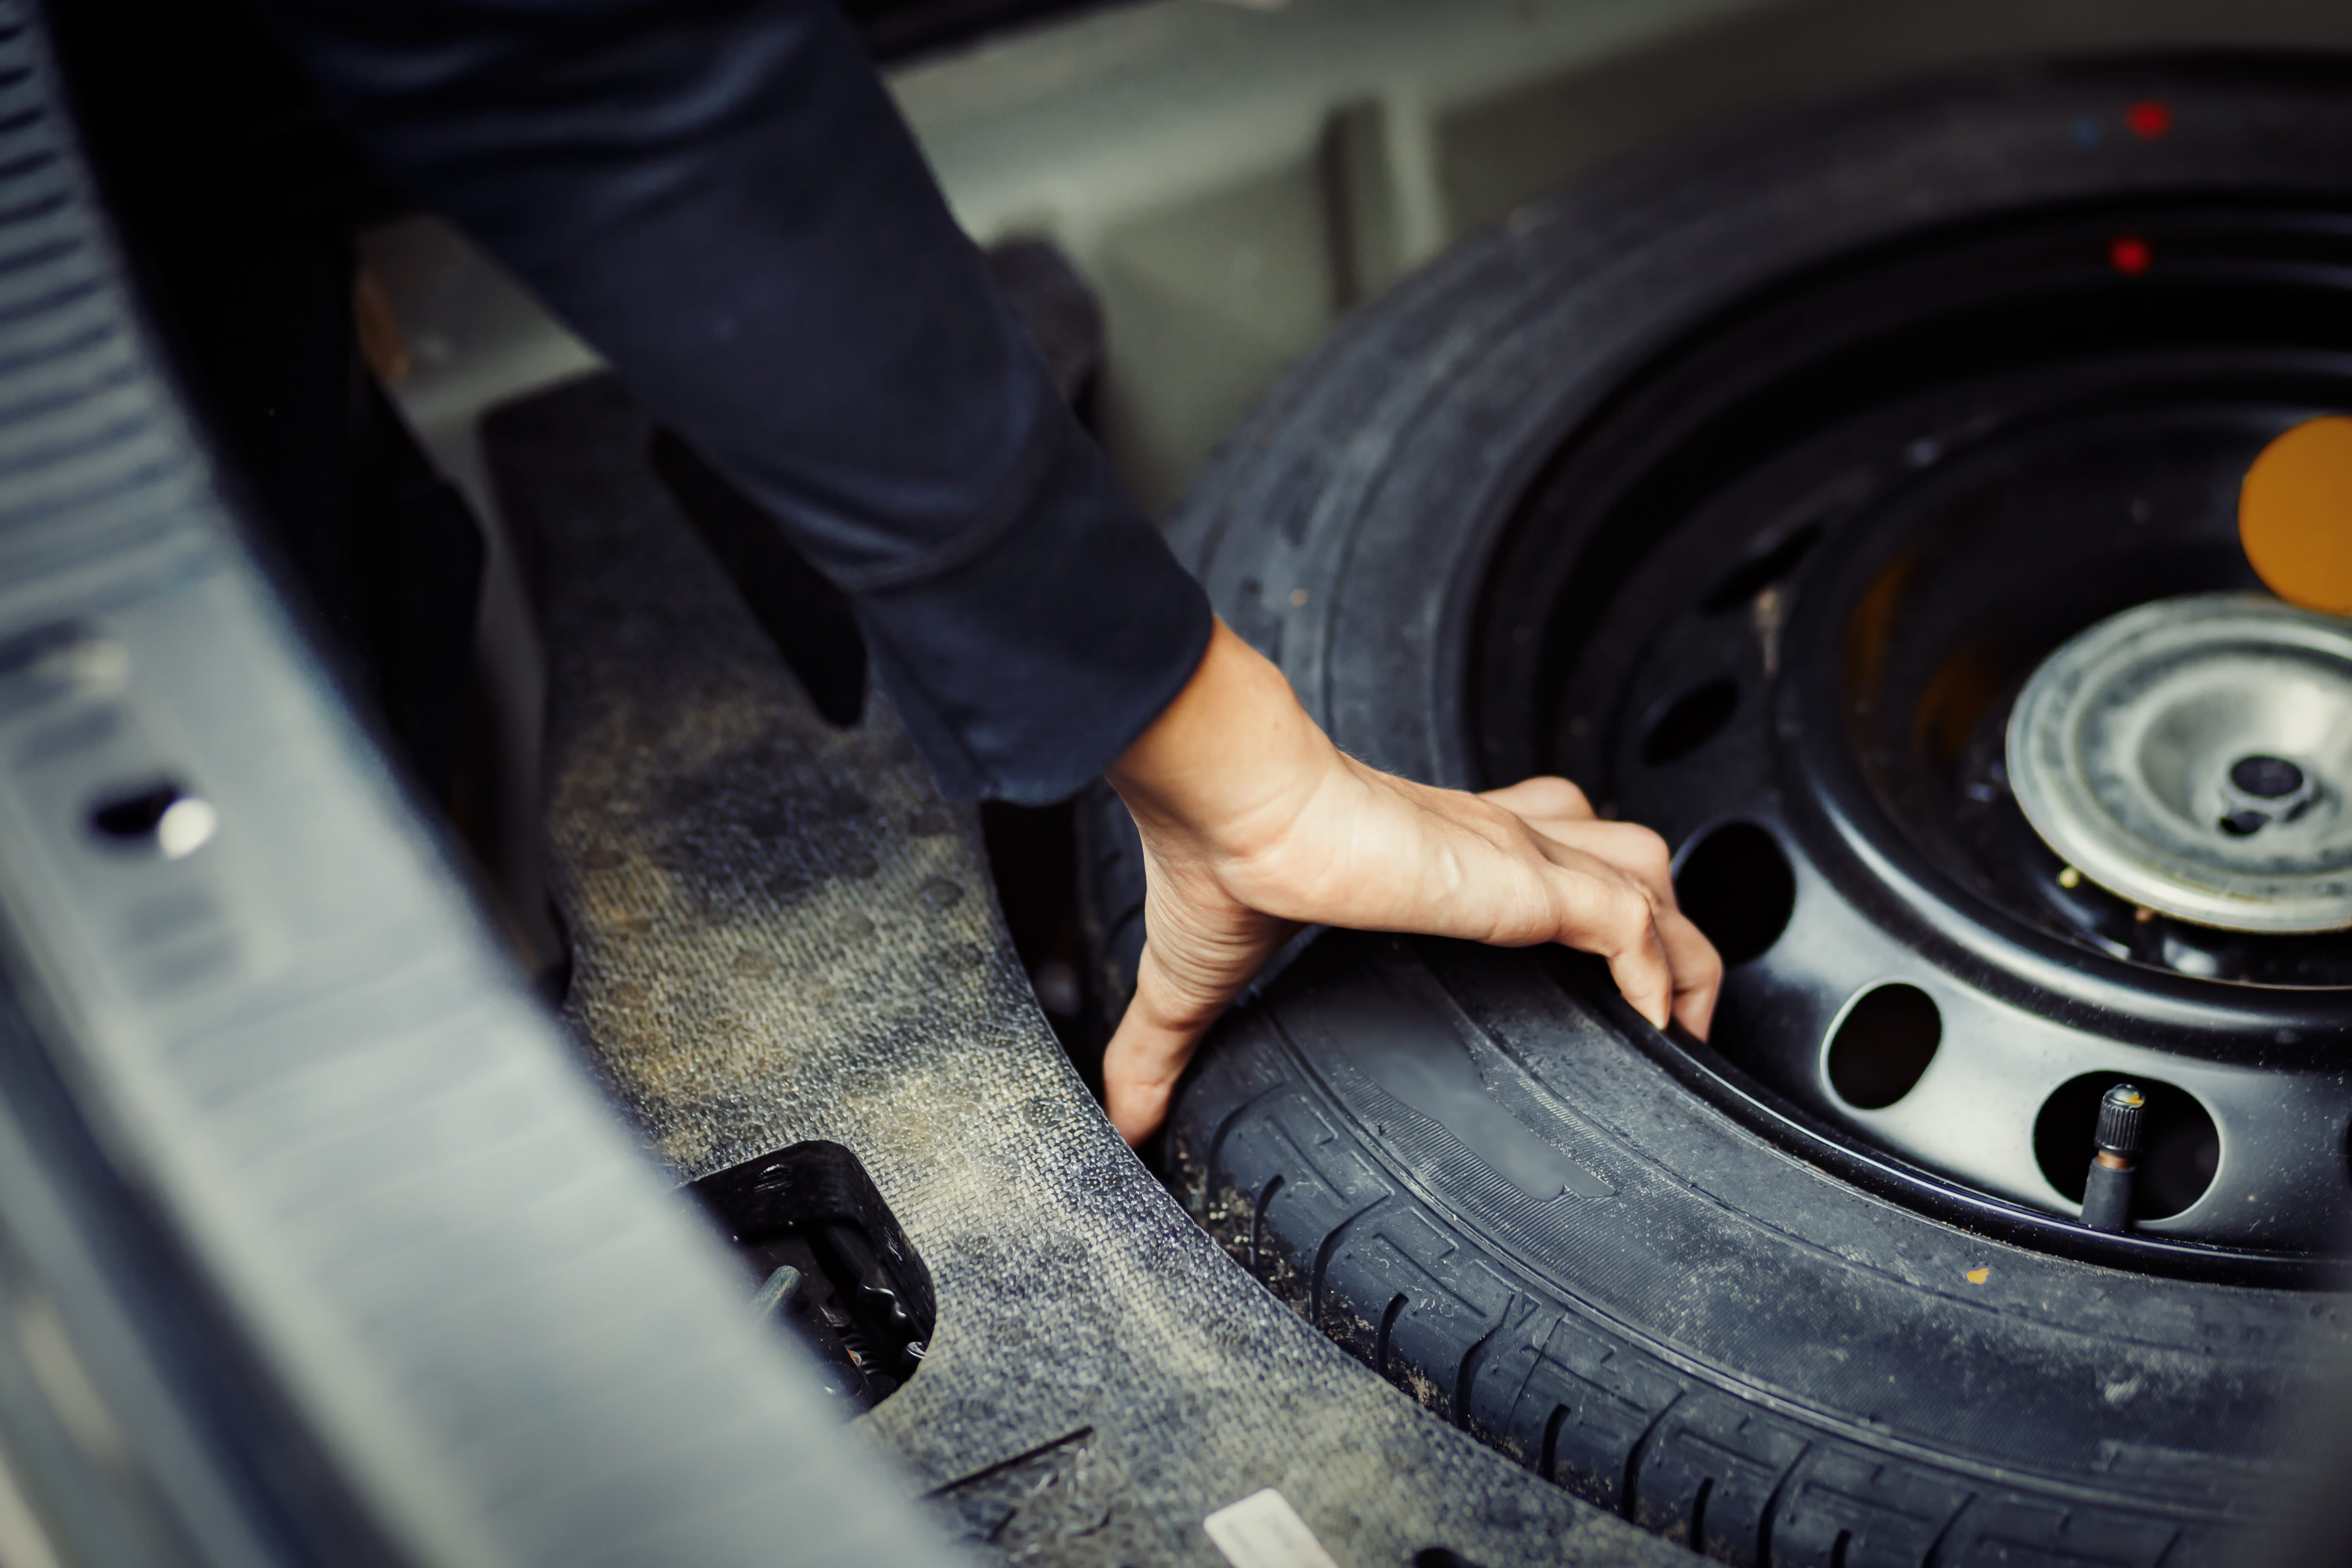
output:
<instances>
[{"instance_id":1,"label":"round silver metal disc at the centre of the black wheel","mask_svg":"<svg viewBox=\"0 0 2352 1568\"><path fill-rule=\"evenodd\" d=\"M2140 604L2034 670L2006 752L2025 820L2107 891L2227 931L2352 926L2352 623Z\"/></svg>"}]
</instances>

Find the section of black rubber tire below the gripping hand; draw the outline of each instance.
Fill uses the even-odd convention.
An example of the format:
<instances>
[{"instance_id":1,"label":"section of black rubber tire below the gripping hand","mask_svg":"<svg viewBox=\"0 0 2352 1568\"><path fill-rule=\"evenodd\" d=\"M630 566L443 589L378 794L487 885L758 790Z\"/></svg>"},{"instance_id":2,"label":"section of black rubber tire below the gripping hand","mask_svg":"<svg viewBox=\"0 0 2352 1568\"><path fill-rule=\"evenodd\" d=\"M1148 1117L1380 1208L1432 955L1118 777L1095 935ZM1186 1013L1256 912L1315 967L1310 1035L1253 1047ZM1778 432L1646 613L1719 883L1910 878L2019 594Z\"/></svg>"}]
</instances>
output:
<instances>
[{"instance_id":1,"label":"section of black rubber tire below the gripping hand","mask_svg":"<svg viewBox=\"0 0 2352 1568\"><path fill-rule=\"evenodd\" d=\"M1595 980L1324 938L1185 1091L1188 1204L1435 1415L1722 1561L2244 1549L2340 1300L1870 1199L1698 1105Z\"/></svg>"}]
</instances>

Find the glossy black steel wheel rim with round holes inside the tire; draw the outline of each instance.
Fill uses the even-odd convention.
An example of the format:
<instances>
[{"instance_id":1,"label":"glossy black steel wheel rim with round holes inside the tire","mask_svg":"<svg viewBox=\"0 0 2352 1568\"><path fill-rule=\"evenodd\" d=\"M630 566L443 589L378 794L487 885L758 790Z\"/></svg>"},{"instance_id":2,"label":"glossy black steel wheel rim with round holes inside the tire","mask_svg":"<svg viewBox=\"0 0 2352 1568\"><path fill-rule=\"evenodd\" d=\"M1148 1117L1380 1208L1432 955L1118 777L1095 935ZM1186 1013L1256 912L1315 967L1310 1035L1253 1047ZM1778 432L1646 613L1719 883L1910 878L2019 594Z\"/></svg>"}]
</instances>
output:
<instances>
[{"instance_id":1,"label":"glossy black steel wheel rim with round holes inside the tire","mask_svg":"<svg viewBox=\"0 0 2352 1568\"><path fill-rule=\"evenodd\" d=\"M1661 1051L1776 1138L2058 1251L2328 1246L2352 936L2140 914L2027 825L2004 738L2089 625L2258 592L2237 477L2345 407L2352 223L2180 200L1825 268L1581 428L1489 578L1477 743L1489 778L1564 771L1675 844L1731 973L1717 1051ZM2117 1079L2154 1128L2122 1244L2072 1220Z\"/></svg>"}]
</instances>

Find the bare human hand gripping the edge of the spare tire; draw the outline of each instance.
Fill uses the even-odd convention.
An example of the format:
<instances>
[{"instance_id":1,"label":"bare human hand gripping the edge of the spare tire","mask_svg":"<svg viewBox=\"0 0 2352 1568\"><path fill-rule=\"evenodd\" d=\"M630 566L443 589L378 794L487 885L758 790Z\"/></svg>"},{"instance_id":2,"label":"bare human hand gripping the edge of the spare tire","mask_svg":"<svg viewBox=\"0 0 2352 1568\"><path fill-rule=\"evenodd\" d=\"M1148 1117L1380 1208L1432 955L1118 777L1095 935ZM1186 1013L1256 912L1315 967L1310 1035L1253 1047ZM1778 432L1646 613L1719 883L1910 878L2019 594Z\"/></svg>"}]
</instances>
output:
<instances>
[{"instance_id":1,"label":"bare human hand gripping the edge of the spare tire","mask_svg":"<svg viewBox=\"0 0 2352 1568\"><path fill-rule=\"evenodd\" d=\"M1167 1119L1225 1004L1305 924L1564 943L1609 959L1653 1025L1705 1039L1722 959L1677 907L1668 849L1566 778L1465 795L1345 757L1223 621L1190 684L1112 764L1143 835L1143 961L1103 1053L1112 1126Z\"/></svg>"}]
</instances>

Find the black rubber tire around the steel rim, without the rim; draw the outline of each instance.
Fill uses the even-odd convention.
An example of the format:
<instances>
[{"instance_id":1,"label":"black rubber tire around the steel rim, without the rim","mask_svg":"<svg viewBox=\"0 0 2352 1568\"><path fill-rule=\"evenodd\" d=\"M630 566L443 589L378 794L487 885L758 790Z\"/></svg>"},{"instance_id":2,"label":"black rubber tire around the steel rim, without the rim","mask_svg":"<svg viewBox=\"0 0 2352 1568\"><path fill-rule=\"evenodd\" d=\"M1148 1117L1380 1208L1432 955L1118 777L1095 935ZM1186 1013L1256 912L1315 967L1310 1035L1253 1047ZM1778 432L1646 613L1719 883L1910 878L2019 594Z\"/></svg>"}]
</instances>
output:
<instances>
[{"instance_id":1,"label":"black rubber tire around the steel rim, without the rim","mask_svg":"<svg viewBox=\"0 0 2352 1568\"><path fill-rule=\"evenodd\" d=\"M2126 134L2150 99L2164 134ZM2086 118L2112 134L2070 134ZM2352 78L2310 61L1983 71L1745 127L1534 202L1362 313L1171 536L1345 750L1503 783L1468 715L1486 574L1632 367L1943 223L2180 190L2340 207L2347 146ZM1141 865L1115 797L1084 820L1117 1001ZM1214 1037L1169 1161L1258 1279L1430 1410L1710 1556L2204 1563L2260 1528L2340 1295L1966 1229L1726 1114L1661 1046L1573 954L1327 936Z\"/></svg>"}]
</instances>

